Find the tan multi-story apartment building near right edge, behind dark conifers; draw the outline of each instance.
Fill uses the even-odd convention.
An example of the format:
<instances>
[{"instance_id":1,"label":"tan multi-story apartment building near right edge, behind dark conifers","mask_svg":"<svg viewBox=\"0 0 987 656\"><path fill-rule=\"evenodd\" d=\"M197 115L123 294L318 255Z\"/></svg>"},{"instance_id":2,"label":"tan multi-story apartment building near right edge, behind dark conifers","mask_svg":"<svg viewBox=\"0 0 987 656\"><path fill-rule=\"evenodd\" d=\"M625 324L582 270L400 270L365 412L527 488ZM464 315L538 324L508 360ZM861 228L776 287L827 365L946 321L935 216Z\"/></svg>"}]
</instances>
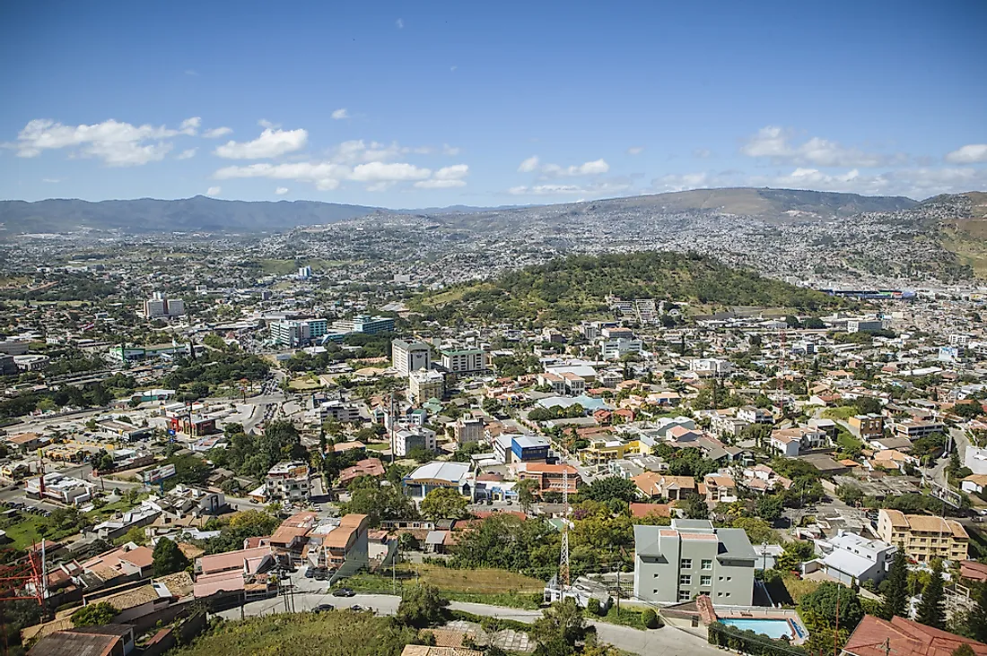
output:
<instances>
[{"instance_id":1,"label":"tan multi-story apartment building near right edge, behind dark conifers","mask_svg":"<svg viewBox=\"0 0 987 656\"><path fill-rule=\"evenodd\" d=\"M965 560L969 536L959 522L927 515L905 515L882 508L877 513L877 537L901 547L916 560Z\"/></svg>"}]
</instances>

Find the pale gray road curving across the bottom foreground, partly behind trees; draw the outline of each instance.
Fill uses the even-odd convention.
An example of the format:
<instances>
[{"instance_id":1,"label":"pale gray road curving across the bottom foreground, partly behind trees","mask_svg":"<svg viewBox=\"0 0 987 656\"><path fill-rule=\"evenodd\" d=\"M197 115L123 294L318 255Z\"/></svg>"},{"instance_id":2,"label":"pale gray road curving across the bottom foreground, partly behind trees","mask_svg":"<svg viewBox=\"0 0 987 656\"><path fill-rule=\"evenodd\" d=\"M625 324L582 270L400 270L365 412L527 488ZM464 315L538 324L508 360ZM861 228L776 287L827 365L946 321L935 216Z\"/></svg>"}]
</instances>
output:
<instances>
[{"instance_id":1,"label":"pale gray road curving across the bottom foreground, partly behind trees","mask_svg":"<svg viewBox=\"0 0 987 656\"><path fill-rule=\"evenodd\" d=\"M332 604L337 608L349 608L357 605L364 609L373 609L378 615L394 615L398 611L400 601L400 597L393 595L358 594L355 597L346 598L326 594L296 593L294 595L294 610L295 612L310 611L320 604ZM486 604L451 602L449 608L488 618L517 620L525 623L531 623L542 617L541 611L509 609L502 606L488 606ZM243 615L245 617L284 612L284 599L281 597L252 602L243 608ZM235 608L229 611L223 611L219 616L227 620L239 620L240 614L241 609ZM648 656L652 654L657 656L684 656L690 654L712 656L713 654L721 653L719 649L710 646L703 638L671 626L645 631L629 626L608 624L602 621L590 621L590 623L596 626L597 635L602 642L636 654L647 654Z\"/></svg>"}]
</instances>

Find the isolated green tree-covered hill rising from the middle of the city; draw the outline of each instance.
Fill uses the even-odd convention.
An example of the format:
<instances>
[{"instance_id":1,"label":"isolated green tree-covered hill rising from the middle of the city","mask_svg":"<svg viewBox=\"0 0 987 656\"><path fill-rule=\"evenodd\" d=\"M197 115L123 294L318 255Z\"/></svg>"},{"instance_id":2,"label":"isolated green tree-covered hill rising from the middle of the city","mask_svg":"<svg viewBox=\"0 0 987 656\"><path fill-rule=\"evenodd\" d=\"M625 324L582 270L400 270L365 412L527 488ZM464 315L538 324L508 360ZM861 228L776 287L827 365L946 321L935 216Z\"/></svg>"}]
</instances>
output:
<instances>
[{"instance_id":1,"label":"isolated green tree-covered hill rising from the middle of the city","mask_svg":"<svg viewBox=\"0 0 987 656\"><path fill-rule=\"evenodd\" d=\"M493 323L573 323L606 314L609 295L803 311L840 304L820 292L731 268L712 257L645 252L557 259L493 281L421 295L412 308L443 323L483 318Z\"/></svg>"}]
</instances>

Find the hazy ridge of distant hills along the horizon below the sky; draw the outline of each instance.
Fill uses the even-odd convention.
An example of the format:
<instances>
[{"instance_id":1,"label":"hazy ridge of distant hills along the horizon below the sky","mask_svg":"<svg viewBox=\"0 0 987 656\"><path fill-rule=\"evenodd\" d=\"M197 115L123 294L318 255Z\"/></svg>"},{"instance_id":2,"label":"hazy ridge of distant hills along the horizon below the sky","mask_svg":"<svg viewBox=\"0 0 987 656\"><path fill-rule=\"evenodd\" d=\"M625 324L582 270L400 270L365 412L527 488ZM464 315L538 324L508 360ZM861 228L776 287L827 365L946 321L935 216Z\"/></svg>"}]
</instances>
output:
<instances>
[{"instance_id":1,"label":"hazy ridge of distant hills along the horizon below the sky","mask_svg":"<svg viewBox=\"0 0 987 656\"><path fill-rule=\"evenodd\" d=\"M771 220L811 221L858 212L893 211L917 204L901 196L862 196L856 193L755 189L749 187L696 189L653 195L610 198L549 205L549 209L591 213L607 209L642 208L659 213L717 211ZM80 229L124 233L155 232L278 232L299 226L336 223L376 212L461 217L465 228L491 228L526 220L538 207L469 207L388 210L309 200L242 201L195 196L180 200L50 199L37 202L0 201L0 235L67 233ZM564 216L564 214L563 214ZM493 218L493 221L491 219ZM446 220L449 220L448 218Z\"/></svg>"}]
</instances>

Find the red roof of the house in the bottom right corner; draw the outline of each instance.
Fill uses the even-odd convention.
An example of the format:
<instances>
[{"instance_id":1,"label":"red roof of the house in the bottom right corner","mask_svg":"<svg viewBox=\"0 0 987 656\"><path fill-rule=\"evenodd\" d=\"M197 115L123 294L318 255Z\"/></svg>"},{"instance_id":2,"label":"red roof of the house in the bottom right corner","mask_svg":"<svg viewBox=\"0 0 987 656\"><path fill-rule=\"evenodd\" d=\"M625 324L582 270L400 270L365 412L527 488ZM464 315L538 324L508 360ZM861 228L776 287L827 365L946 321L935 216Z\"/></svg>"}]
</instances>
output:
<instances>
[{"instance_id":1,"label":"red roof of the house in the bottom right corner","mask_svg":"<svg viewBox=\"0 0 987 656\"><path fill-rule=\"evenodd\" d=\"M961 645L969 646L975 656L987 656L987 644L982 642L917 621L869 615L857 624L841 656L952 656Z\"/></svg>"}]
</instances>

